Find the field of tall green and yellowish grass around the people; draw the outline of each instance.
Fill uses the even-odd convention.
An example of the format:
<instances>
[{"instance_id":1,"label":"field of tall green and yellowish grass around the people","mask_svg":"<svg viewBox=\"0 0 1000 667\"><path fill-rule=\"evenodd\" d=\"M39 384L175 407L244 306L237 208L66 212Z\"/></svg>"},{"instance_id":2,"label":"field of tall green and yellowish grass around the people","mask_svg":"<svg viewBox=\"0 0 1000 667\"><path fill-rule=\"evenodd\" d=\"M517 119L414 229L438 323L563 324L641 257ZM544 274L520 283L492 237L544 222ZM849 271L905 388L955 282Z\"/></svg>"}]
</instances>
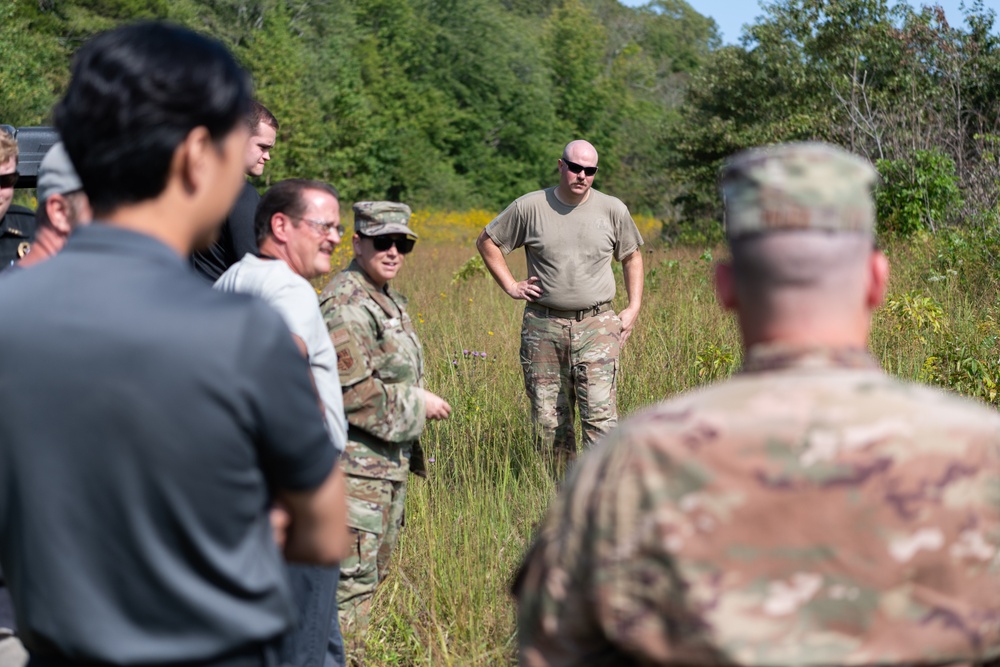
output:
<instances>
[{"instance_id":1,"label":"field of tall green and yellowish grass around the people","mask_svg":"<svg viewBox=\"0 0 1000 667\"><path fill-rule=\"evenodd\" d=\"M416 214L421 241L396 281L424 344L427 386L453 413L425 433L430 478L410 477L406 527L367 639L372 665L516 662L508 587L555 488L529 442L517 358L523 304L483 273L467 269L454 281L489 217ZM655 239L655 221L639 222ZM336 266L349 261L344 245ZM622 356L623 415L726 377L740 363L736 328L711 284L724 249L654 241L643 252L643 312ZM1000 303L989 249L939 235L887 252L894 274L875 320L876 357L902 377L996 403ZM509 261L523 277L523 254Z\"/></svg>"}]
</instances>

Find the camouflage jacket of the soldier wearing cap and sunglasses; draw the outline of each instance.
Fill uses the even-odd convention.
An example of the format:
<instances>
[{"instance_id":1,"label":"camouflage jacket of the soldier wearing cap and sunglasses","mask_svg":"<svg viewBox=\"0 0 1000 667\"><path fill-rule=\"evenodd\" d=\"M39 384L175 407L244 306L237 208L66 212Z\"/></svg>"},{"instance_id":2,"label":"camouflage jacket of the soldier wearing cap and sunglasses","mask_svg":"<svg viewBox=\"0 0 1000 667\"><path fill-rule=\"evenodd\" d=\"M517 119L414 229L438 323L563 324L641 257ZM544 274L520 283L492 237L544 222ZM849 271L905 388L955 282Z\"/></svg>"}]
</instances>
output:
<instances>
[{"instance_id":1,"label":"camouflage jacket of the soldier wearing cap and sunglasses","mask_svg":"<svg viewBox=\"0 0 1000 667\"><path fill-rule=\"evenodd\" d=\"M357 262L334 276L319 297L337 350L347 414L344 472L405 480L426 475L424 352L406 312L406 298L377 288Z\"/></svg>"}]
</instances>

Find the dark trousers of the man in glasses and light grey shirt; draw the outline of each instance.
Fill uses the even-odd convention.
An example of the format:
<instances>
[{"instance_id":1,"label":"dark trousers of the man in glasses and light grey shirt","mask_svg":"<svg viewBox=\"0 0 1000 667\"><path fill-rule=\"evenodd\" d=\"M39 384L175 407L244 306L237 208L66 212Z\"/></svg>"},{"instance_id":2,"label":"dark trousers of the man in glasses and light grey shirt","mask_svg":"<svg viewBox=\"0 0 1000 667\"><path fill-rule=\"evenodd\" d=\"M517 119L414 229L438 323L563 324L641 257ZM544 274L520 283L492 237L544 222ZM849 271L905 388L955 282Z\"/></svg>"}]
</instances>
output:
<instances>
[{"instance_id":1,"label":"dark trousers of the man in glasses and light grey shirt","mask_svg":"<svg viewBox=\"0 0 1000 667\"><path fill-rule=\"evenodd\" d=\"M286 566L298 620L281 642L282 667L344 667L337 622L339 567Z\"/></svg>"}]
</instances>

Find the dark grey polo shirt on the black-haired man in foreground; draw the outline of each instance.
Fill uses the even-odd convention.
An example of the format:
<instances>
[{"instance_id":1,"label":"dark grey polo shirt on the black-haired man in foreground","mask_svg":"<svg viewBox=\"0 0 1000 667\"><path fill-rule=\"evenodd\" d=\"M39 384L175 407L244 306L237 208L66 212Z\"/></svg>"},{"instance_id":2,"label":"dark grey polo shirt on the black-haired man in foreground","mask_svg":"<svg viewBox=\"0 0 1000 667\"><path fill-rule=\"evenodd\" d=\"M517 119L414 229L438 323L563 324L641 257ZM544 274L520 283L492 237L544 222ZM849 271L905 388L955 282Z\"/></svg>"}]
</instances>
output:
<instances>
[{"instance_id":1,"label":"dark grey polo shirt on the black-haired man in foreground","mask_svg":"<svg viewBox=\"0 0 1000 667\"><path fill-rule=\"evenodd\" d=\"M0 281L0 563L29 650L203 660L293 617L267 509L336 460L266 304L105 224Z\"/></svg>"}]
</instances>

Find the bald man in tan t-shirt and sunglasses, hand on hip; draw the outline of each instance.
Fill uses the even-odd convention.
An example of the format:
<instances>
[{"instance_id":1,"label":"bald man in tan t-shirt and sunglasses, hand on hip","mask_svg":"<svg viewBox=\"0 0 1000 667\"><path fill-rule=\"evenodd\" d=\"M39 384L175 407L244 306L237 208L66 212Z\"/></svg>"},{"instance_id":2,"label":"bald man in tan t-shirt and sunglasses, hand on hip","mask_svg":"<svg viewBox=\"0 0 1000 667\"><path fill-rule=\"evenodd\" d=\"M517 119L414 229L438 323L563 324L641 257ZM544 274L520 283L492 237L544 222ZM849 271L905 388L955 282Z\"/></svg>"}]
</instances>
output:
<instances>
[{"instance_id":1,"label":"bald man in tan t-shirt and sunglasses, hand on hip","mask_svg":"<svg viewBox=\"0 0 1000 667\"><path fill-rule=\"evenodd\" d=\"M521 366L536 439L561 470L576 455L574 404L584 447L618 423L618 354L642 305L642 237L621 200L594 190L597 151L567 144L559 184L524 195L479 235L497 284L527 301ZM524 246L527 280L504 259ZM611 260L622 263L628 307L615 314Z\"/></svg>"}]
</instances>

